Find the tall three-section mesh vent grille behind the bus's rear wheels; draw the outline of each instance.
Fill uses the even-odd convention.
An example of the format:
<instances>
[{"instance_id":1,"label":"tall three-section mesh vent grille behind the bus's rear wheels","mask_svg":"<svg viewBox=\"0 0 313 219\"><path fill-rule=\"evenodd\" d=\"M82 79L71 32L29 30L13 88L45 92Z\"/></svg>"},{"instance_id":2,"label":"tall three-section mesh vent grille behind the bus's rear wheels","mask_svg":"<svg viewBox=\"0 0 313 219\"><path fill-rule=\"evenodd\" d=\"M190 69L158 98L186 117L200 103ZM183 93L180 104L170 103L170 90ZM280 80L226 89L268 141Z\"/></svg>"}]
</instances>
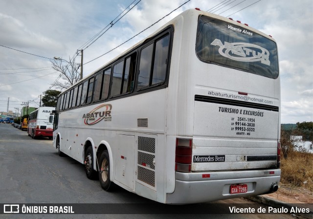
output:
<instances>
[{"instance_id":1,"label":"tall three-section mesh vent grille behind the bus's rear wheels","mask_svg":"<svg viewBox=\"0 0 313 219\"><path fill-rule=\"evenodd\" d=\"M142 135L144 136L138 136L137 139L137 180L155 190L156 135Z\"/></svg>"}]
</instances>

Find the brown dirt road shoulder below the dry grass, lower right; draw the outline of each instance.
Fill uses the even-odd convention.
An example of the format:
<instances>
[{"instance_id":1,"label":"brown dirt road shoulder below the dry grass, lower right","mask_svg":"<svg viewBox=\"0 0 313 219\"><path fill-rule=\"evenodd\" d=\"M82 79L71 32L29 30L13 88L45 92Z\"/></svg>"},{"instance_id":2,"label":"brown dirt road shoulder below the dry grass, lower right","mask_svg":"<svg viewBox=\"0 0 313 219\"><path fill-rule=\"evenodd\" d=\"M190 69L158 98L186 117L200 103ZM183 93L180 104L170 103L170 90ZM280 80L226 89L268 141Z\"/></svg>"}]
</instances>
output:
<instances>
[{"instance_id":1,"label":"brown dirt road shoulder below the dry grass, lower right","mask_svg":"<svg viewBox=\"0 0 313 219\"><path fill-rule=\"evenodd\" d=\"M313 192L304 188L290 188L280 185L275 193L262 195L261 197L269 197L286 203L313 203Z\"/></svg>"}]
</instances>

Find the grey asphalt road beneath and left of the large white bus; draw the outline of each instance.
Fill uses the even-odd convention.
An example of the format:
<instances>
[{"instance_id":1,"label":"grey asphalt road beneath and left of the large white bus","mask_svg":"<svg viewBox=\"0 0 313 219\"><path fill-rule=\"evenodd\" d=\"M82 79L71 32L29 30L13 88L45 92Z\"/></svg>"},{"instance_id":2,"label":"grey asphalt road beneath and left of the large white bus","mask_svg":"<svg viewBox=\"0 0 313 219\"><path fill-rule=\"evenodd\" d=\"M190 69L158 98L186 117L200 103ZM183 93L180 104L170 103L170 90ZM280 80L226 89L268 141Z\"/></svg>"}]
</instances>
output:
<instances>
[{"instance_id":1,"label":"grey asphalt road beneath and left of the large white bus","mask_svg":"<svg viewBox=\"0 0 313 219\"><path fill-rule=\"evenodd\" d=\"M52 148L52 140L48 138L32 139L26 131L15 129L10 124L0 123L0 203L91 203L108 206L105 204L118 203L113 207L123 208L123 203L145 203L144 206L156 206L162 208L149 199L139 197L122 188L113 192L105 192L101 189L98 180L89 180L86 177L84 165L70 157L60 157ZM220 211L225 206L234 203L251 203L251 201L236 198L214 202L221 205ZM262 208L264 205L257 204ZM102 205L95 205L101 207ZM111 205L110 205L111 206ZM125 205L126 206L126 205ZM168 207L168 205L166 205ZM247 205L249 206L249 205ZM138 206L137 206L138 207ZM182 208L200 208L201 205L186 205ZM203 206L204 207L204 206ZM171 207L170 207L171 208ZM173 207L174 208L174 207ZM122 210L122 209L121 209ZM219 211L219 210L218 210ZM106 215L0 215L0 218L208 218L208 215L138 215L138 214L106 214ZM215 214L210 218L219 219L270 219L270 218L293 218L285 215L231 215Z\"/></svg>"}]
</instances>

